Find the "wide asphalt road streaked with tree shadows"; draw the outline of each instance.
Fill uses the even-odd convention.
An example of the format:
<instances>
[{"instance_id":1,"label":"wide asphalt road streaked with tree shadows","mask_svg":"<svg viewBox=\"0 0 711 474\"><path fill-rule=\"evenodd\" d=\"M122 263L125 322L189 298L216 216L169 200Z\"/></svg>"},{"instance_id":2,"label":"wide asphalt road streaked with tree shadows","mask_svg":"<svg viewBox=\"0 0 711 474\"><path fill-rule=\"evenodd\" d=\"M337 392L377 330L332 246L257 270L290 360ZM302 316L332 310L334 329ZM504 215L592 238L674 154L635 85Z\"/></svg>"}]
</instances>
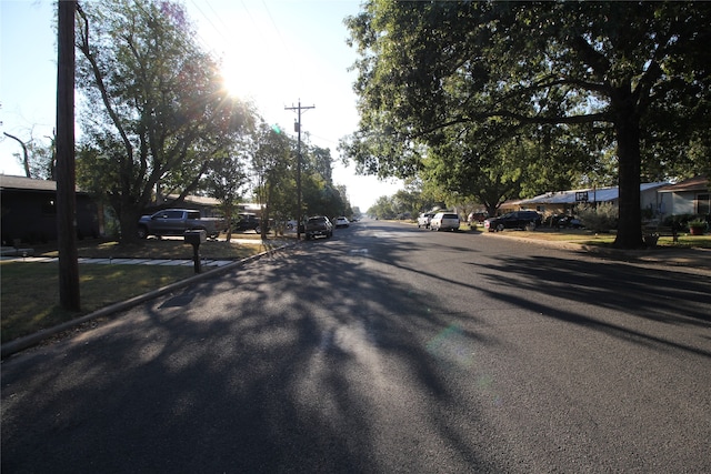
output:
<instances>
[{"instance_id":1,"label":"wide asphalt road streaked with tree shadows","mask_svg":"<svg viewBox=\"0 0 711 474\"><path fill-rule=\"evenodd\" d=\"M711 472L710 294L360 222L3 361L1 468Z\"/></svg>"}]
</instances>

